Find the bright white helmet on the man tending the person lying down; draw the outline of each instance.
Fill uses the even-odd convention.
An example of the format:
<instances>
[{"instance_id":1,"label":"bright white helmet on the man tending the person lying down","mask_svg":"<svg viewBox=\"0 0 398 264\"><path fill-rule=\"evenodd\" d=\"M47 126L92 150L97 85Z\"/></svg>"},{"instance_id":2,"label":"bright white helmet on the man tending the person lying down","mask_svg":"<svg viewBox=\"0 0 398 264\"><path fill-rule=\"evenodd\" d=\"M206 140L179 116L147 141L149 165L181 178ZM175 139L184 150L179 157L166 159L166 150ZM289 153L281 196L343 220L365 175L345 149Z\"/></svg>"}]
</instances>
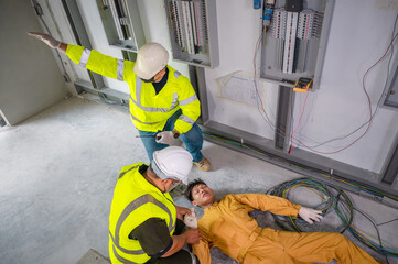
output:
<instances>
[{"instance_id":1,"label":"bright white helmet on the man tending the person lying down","mask_svg":"<svg viewBox=\"0 0 398 264\"><path fill-rule=\"evenodd\" d=\"M153 152L152 170L162 179L173 178L187 184L192 168L192 155L181 146L168 146Z\"/></svg>"}]
</instances>

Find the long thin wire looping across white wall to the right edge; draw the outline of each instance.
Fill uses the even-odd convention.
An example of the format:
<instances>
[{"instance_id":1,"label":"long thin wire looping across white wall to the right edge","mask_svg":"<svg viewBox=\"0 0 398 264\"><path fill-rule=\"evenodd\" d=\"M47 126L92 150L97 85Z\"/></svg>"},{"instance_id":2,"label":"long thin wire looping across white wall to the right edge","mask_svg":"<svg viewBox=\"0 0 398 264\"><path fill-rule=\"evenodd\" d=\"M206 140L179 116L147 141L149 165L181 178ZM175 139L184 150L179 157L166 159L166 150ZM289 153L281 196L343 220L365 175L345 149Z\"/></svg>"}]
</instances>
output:
<instances>
[{"instance_id":1,"label":"long thin wire looping across white wall to the right edge","mask_svg":"<svg viewBox=\"0 0 398 264\"><path fill-rule=\"evenodd\" d=\"M266 33L265 30L262 30L262 31L261 31L261 34L260 34L260 37L258 38L258 41L257 41L257 43L256 43L255 56L254 56L254 59L252 59L252 65L254 65L254 68L255 68L255 87L256 87L256 92L257 92L257 96L258 96L258 98L259 98L259 100L260 100L260 102L261 102L260 109L261 109L262 112L266 114L266 118L267 118L269 124L270 124L275 130L279 131L281 134L283 134L284 136L287 136L288 134L287 134L284 131L280 130L279 128L275 127L275 124L273 124L273 123L271 122L271 120L268 118L268 114L267 114L266 110L263 109L263 103L262 103L261 97L260 97L260 95L259 95L259 92L258 92L258 88L257 88L257 82L256 82L256 79L257 79L256 56L257 56L257 51L258 51L258 43L259 43L259 41L261 40L262 34L265 34L265 33ZM366 77L366 75L369 73L369 70L370 70L372 68L374 68L378 63L380 63L380 62L386 57L386 55L388 54L388 51L389 51L390 47L392 46L394 41L397 38L397 36L398 36L398 33L392 37L392 40L391 40L390 44L388 45L385 54L384 54L375 64L373 64L373 65L365 72L365 74L364 74L364 76L363 76L363 81L362 81L362 84L363 84L363 90L364 90L364 92L365 92L365 95L366 95L366 97L367 97L367 101L368 101L368 105L369 105L369 120L367 121L368 124L367 124L367 128L366 128L366 130L365 130L365 132L364 132L363 134L361 134L357 139L355 139L355 140L354 140L352 143L349 143L348 145L346 145L346 146L344 146L344 147L342 147L342 148L340 148L340 150L337 150L337 151L333 151L333 152L320 152L320 151L315 151L314 148L305 145L305 144L304 144L303 142L301 142L299 139L297 139L295 136L293 136L293 133L290 135L291 140L294 139L294 140L295 140L297 142L299 142L301 145L303 145L304 147L306 147L306 148L309 148L310 151L312 151L312 152L314 152L314 153L318 153L318 154L335 154L335 153L338 153L338 152L342 152L342 151L348 148L349 146L354 145L358 140L361 140L361 139L369 131L369 129L370 129L370 123L372 123L372 119L373 119L373 116L372 116L372 101L370 101L370 97L369 97L369 95L368 95L368 92L367 92L367 90L366 90L366 88L365 88L365 77ZM308 95L306 95L306 96L308 96ZM306 97L305 97L305 100L306 100ZM301 118L301 117L300 117L300 118ZM294 132L295 132L295 131L294 131ZM291 152L291 150L289 151L289 153L290 153L290 152Z\"/></svg>"}]
</instances>

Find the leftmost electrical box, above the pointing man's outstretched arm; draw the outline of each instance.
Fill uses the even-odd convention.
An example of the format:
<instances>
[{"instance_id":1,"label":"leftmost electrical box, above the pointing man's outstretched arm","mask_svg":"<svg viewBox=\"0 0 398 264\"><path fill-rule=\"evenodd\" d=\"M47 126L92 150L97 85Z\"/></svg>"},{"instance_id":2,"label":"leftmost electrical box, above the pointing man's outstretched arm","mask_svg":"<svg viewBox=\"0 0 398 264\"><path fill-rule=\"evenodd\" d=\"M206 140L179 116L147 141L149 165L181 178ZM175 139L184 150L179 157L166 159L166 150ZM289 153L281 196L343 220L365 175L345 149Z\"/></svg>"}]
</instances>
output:
<instances>
[{"instance_id":1,"label":"leftmost electrical box, above the pointing man's outstretched arm","mask_svg":"<svg viewBox=\"0 0 398 264\"><path fill-rule=\"evenodd\" d=\"M137 0L97 0L109 45L137 53L146 44Z\"/></svg>"}]
</instances>

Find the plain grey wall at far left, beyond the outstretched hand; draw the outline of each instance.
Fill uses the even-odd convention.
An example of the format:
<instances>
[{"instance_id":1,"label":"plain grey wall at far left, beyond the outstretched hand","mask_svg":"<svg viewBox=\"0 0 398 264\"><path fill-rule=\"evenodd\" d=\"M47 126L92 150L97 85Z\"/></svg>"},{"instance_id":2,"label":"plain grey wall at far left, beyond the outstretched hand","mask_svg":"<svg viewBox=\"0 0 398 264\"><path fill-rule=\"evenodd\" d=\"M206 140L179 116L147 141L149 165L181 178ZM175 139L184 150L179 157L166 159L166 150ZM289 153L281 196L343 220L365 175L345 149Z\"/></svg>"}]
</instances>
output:
<instances>
[{"instance_id":1,"label":"plain grey wall at far left, beyond the outstretched hand","mask_svg":"<svg viewBox=\"0 0 398 264\"><path fill-rule=\"evenodd\" d=\"M0 110L17 124L66 96L51 48L28 36L42 29L26 0L0 1Z\"/></svg>"}]
</instances>

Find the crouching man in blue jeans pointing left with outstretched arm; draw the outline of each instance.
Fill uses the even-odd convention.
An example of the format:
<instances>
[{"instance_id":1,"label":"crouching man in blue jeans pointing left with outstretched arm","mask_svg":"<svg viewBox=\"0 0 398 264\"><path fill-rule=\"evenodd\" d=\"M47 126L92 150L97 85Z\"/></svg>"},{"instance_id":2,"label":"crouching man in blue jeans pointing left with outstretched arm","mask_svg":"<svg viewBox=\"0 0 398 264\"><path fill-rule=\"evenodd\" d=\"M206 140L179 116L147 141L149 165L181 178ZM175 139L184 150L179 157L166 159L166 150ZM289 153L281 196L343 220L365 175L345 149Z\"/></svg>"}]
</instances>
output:
<instances>
[{"instance_id":1,"label":"crouching man in blue jeans pointing left with outstretched arm","mask_svg":"<svg viewBox=\"0 0 398 264\"><path fill-rule=\"evenodd\" d=\"M129 84L131 120L150 161L154 151L180 138L201 170L212 168L202 154L203 135L195 123L201 116L201 103L190 80L168 65L169 53L161 44L143 45L133 63L65 44L47 34L30 32L29 35L66 53L73 62L94 73Z\"/></svg>"}]
</instances>

